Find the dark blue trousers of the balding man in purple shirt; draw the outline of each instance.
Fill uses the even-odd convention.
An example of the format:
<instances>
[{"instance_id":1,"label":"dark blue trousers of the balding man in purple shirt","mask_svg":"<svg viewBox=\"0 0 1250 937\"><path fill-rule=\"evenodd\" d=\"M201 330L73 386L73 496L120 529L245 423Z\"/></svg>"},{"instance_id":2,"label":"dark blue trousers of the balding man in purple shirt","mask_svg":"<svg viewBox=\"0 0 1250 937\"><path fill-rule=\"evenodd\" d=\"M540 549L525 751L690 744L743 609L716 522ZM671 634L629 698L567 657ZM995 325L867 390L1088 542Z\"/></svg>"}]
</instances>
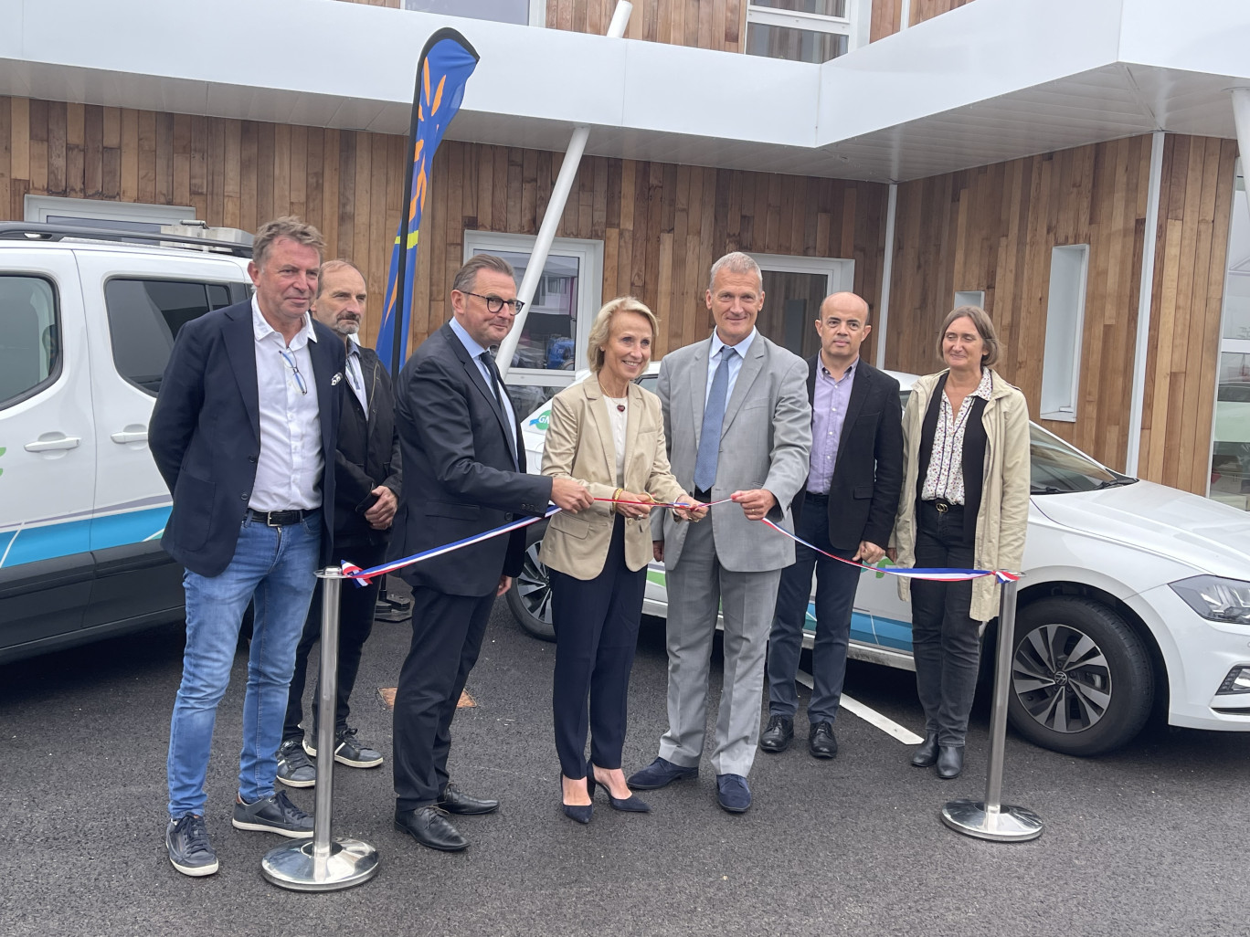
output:
<instances>
[{"instance_id":1,"label":"dark blue trousers of the balding man in purple shirt","mask_svg":"<svg viewBox=\"0 0 1250 937\"><path fill-rule=\"evenodd\" d=\"M834 556L850 560L854 550L829 543L829 498L808 493L794 522L795 533ZM776 615L769 635L769 715L794 718L799 695L794 687L802 653L802 626L808 618L811 572L816 572L816 638L811 648L811 702L808 721L834 722L846 678L846 646L860 570L795 543L794 563L781 571Z\"/></svg>"}]
</instances>

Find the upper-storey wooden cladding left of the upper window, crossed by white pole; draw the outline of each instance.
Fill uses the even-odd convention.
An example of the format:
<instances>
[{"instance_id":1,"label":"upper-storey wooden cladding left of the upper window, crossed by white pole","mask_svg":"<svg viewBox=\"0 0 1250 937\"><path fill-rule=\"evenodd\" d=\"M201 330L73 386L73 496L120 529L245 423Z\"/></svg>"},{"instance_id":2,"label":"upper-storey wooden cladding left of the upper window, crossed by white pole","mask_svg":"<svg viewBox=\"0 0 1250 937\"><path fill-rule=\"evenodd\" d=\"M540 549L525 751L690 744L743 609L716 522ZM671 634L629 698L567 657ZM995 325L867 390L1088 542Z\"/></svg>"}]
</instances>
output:
<instances>
[{"instance_id":1,"label":"upper-storey wooden cladding left of the upper window, crossed by white pole","mask_svg":"<svg viewBox=\"0 0 1250 937\"><path fill-rule=\"evenodd\" d=\"M546 0L546 25L602 35L615 7L616 0ZM636 0L625 37L739 52L745 21L746 0Z\"/></svg>"}]
</instances>

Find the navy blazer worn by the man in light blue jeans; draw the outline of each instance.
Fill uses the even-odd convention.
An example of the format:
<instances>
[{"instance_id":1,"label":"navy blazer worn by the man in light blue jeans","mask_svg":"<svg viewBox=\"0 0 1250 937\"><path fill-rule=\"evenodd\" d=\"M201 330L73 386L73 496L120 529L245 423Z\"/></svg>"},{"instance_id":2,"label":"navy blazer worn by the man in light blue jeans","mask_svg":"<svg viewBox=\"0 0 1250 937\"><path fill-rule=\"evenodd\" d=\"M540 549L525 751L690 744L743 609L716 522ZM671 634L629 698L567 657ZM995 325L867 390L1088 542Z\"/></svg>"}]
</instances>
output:
<instances>
[{"instance_id":1,"label":"navy blazer worn by the man in light blue jeans","mask_svg":"<svg viewBox=\"0 0 1250 937\"><path fill-rule=\"evenodd\" d=\"M334 465L342 392L342 339L312 322L309 342L321 416L321 455ZM174 508L161 541L191 572L219 576L234 558L239 525L256 483L260 456L260 391L256 384L251 300L184 325L174 341L148 447ZM334 472L322 472L322 563L330 561Z\"/></svg>"}]
</instances>

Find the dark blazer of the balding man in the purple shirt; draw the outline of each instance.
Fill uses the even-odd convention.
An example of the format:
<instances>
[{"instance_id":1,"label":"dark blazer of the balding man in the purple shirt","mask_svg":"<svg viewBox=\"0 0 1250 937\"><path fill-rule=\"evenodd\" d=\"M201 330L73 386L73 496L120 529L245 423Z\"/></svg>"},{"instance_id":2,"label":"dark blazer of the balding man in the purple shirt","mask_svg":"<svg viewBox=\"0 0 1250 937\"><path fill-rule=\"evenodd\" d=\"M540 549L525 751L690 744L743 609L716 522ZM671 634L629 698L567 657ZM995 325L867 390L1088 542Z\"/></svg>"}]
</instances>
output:
<instances>
[{"instance_id":1,"label":"dark blazer of the balding man in the purple shirt","mask_svg":"<svg viewBox=\"0 0 1250 937\"><path fill-rule=\"evenodd\" d=\"M808 359L808 402L816 396L820 354ZM799 488L794 511L802 510L808 486ZM890 542L902 491L902 404L899 382L860 360L838 440L829 485L829 542L855 550L860 541Z\"/></svg>"}]
</instances>

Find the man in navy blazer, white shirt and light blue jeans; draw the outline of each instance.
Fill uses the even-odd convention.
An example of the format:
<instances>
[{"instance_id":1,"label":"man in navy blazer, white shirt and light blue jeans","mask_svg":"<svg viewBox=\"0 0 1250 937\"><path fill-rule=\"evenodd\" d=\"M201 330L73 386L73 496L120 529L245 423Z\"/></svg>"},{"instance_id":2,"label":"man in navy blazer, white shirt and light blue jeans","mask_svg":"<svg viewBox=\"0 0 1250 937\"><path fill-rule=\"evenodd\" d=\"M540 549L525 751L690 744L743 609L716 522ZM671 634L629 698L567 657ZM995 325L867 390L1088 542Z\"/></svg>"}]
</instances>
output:
<instances>
[{"instance_id":1,"label":"man in navy blazer, white shirt and light blue jeans","mask_svg":"<svg viewBox=\"0 0 1250 937\"><path fill-rule=\"evenodd\" d=\"M162 543L186 567L165 845L189 876L218 871L204 781L250 601L255 625L231 822L312 836L312 818L274 792L274 777L295 646L315 570L331 548L344 349L308 312L322 250L318 230L299 219L276 219L256 232L248 265L252 299L179 330L149 425L152 459L174 496Z\"/></svg>"}]
</instances>

